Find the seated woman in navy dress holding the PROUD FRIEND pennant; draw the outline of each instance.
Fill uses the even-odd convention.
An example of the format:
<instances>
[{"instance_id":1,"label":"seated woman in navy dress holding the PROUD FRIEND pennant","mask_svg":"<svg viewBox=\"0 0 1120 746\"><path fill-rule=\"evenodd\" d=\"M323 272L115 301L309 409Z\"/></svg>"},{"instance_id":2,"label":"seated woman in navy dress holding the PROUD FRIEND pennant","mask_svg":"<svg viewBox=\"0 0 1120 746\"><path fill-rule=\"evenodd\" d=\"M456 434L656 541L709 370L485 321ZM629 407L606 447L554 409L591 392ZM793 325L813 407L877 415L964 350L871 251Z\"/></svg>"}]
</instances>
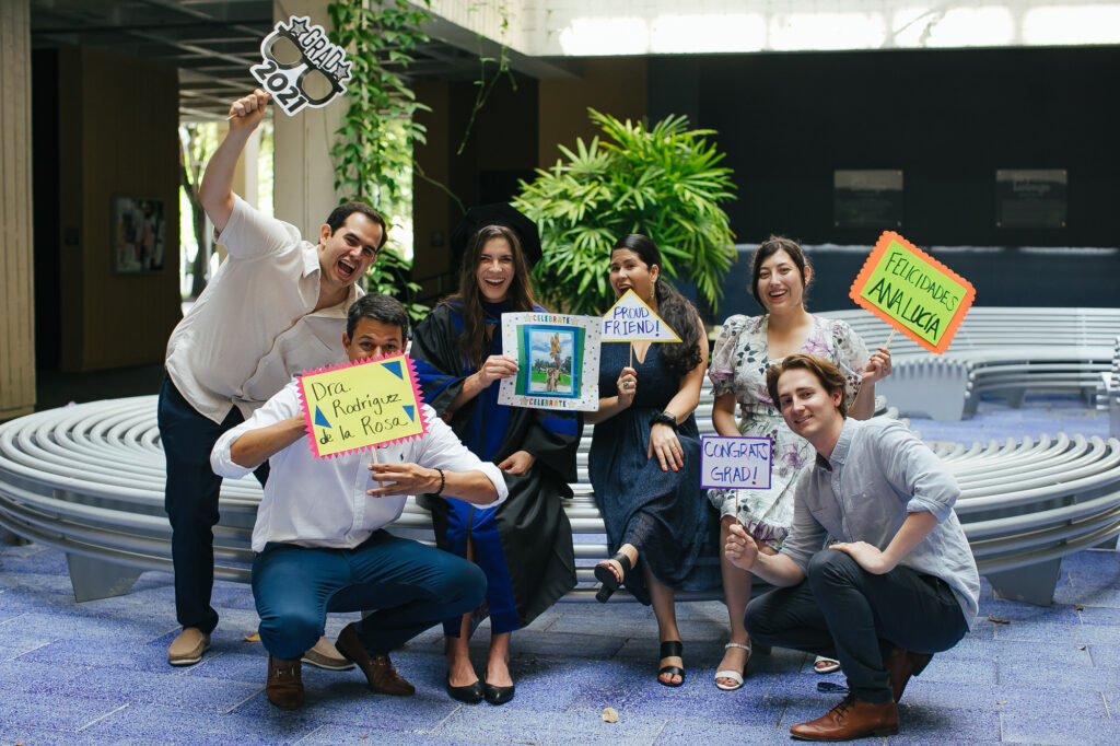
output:
<instances>
[{"instance_id":1,"label":"seated woman in navy dress holding the PROUD FRIEND pennant","mask_svg":"<svg viewBox=\"0 0 1120 746\"><path fill-rule=\"evenodd\" d=\"M680 343L604 343L590 476L614 556L595 568L606 600L625 584L653 604L661 640L657 681L684 681L673 590L719 585L718 520L700 488L700 439L692 411L708 363L696 308L661 279L648 237L624 236L610 252L610 286L633 290Z\"/></svg>"}]
</instances>

